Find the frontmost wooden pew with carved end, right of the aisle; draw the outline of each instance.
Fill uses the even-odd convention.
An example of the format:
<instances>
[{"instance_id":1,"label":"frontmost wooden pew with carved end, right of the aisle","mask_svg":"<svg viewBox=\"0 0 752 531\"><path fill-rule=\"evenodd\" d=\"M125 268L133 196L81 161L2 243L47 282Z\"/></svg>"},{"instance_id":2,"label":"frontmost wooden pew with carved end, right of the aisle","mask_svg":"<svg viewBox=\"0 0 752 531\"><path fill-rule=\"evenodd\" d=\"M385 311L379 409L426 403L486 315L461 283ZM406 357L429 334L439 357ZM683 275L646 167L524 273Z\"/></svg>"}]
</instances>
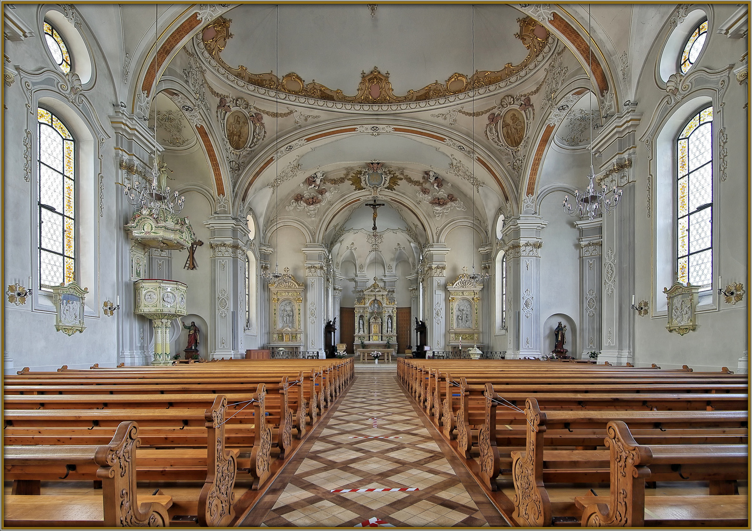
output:
<instances>
[{"instance_id":1,"label":"frontmost wooden pew with carved end, right of the aisle","mask_svg":"<svg viewBox=\"0 0 752 531\"><path fill-rule=\"evenodd\" d=\"M746 446L638 445L626 423L608 423L610 496L578 496L582 526L743 526L749 527L747 496L645 496L645 481L661 466L705 467L715 473L747 469Z\"/></svg>"}]
</instances>

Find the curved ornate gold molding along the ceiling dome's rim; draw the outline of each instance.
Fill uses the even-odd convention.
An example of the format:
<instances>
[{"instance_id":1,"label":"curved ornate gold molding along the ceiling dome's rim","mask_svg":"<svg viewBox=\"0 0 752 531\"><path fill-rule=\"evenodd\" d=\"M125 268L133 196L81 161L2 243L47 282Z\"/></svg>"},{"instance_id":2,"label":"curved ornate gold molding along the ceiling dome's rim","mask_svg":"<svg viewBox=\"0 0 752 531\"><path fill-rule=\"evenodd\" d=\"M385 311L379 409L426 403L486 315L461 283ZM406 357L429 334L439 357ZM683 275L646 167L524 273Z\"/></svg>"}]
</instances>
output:
<instances>
[{"instance_id":1,"label":"curved ornate gold molding along the ceiling dome's rim","mask_svg":"<svg viewBox=\"0 0 752 531\"><path fill-rule=\"evenodd\" d=\"M243 65L239 65L238 68L232 68L221 57L222 50L226 47L227 41L232 38L232 33L229 31L230 23L232 23L231 19L218 17L213 23L205 26L202 32L202 42L207 53L220 67L228 71L229 74L238 77L246 83L269 90L277 90L308 98L347 103L389 104L422 102L500 83L523 71L534 62L546 46L550 37L550 32L538 23L538 21L532 19L532 17L519 18L517 19L517 23L520 24L520 32L515 33L514 36L522 41L522 44L529 52L518 65L507 63L501 70L475 71L475 74L472 74L470 77L456 72L443 84L435 81L424 86L422 89L408 90L408 93L404 96L396 96L393 93L392 83L389 80L389 72L381 74L381 71L374 66L373 70L368 73L365 73L365 71L361 72L358 92L354 96L347 96L340 89L330 89L328 86L316 83L315 81L305 83L305 80L295 72L285 74L280 80L272 72L253 74ZM542 37L539 35L542 35Z\"/></svg>"}]
</instances>

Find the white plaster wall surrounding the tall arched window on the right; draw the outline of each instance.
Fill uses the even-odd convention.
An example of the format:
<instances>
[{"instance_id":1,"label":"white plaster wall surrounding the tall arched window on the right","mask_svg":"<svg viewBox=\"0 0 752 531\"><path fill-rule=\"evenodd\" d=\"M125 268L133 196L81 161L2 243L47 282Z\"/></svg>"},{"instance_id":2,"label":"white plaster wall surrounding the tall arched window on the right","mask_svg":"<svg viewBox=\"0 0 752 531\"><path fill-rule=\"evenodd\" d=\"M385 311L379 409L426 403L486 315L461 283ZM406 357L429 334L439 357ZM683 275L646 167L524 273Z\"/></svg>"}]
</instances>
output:
<instances>
[{"instance_id":1,"label":"white plaster wall surrounding the tall arched window on the right","mask_svg":"<svg viewBox=\"0 0 752 531\"><path fill-rule=\"evenodd\" d=\"M739 58L746 50L745 39L730 39L716 32L735 10L735 5L712 6L714 27L708 31L705 52L693 68L704 67L720 70L729 64L738 67ZM656 35L649 57L660 53L660 45L666 38L669 28L664 26ZM691 72L691 71L690 71ZM748 171L747 171L747 109L744 104L747 84L739 85L731 74L726 90L723 112L728 142L726 148L728 168L726 181L718 183L714 190L714 202L717 203L714 223L718 225L718 238L714 242L714 253L720 271L714 271L714 277L723 275L723 284L738 281L745 284L747 279L747 234L746 220L749 217ZM647 129L650 115L660 107L660 101L666 93L656 86L653 74L653 62L646 62L638 80L635 99L639 102L638 111L643 118L638 129L638 138ZM691 96L687 96L690 98ZM714 135L717 129L714 130ZM647 296L653 290L661 291L664 286L651 284L653 268L653 218L647 217L646 176L648 151L643 142L637 144L637 160L634 174L635 184L635 295ZM718 153L714 153L717 160ZM716 167L717 168L717 167ZM715 168L714 168L715 169ZM663 368L681 367L684 364L695 370L718 370L721 366L729 369L737 366L737 360L746 350L748 323L746 318L747 299L736 305L727 305L717 298L717 309L703 312L697 316L697 329L684 336L669 333L666 330L666 317L653 316L653 308L646 317L635 317L635 364L650 365L657 363Z\"/></svg>"}]
</instances>

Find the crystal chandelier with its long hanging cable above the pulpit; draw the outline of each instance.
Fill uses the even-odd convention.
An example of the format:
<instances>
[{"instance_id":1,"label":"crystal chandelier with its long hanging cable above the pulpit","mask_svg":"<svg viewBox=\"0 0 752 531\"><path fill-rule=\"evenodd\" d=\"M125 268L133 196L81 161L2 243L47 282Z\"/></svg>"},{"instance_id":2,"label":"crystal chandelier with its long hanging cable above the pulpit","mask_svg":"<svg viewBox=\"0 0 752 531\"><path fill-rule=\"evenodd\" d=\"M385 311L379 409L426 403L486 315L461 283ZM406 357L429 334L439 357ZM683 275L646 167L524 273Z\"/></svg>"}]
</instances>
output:
<instances>
[{"instance_id":1,"label":"crystal chandelier with its long hanging cable above the pulpit","mask_svg":"<svg viewBox=\"0 0 752 531\"><path fill-rule=\"evenodd\" d=\"M154 35L156 37L154 44L154 61L156 62L156 50L159 50L159 35L158 35L158 15L154 16ZM151 168L151 179L148 179L147 172L140 173L136 170L134 173L139 174L145 178L146 183L142 186L137 179L129 179L125 183L118 183L125 190L126 200L129 205L135 206L137 209L141 209L141 214L150 215L155 219L159 219L160 214L178 214L183 210L185 205L185 196L178 197L177 190L171 191L167 186L167 163L164 159L159 162L157 156L157 141L156 141L156 127L157 127L157 114L156 114L156 83L154 84L154 164ZM148 120L149 117L146 117ZM121 163L121 168L123 164ZM162 218L166 217L163 216Z\"/></svg>"}]
</instances>

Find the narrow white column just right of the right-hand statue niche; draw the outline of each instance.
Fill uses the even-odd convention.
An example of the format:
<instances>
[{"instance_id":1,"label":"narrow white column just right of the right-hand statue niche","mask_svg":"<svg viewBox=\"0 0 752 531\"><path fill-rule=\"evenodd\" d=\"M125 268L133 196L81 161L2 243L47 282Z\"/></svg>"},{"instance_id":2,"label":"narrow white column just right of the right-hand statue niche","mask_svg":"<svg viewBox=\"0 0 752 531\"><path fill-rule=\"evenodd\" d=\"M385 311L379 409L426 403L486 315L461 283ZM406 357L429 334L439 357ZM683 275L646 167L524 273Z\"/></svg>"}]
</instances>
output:
<instances>
[{"instance_id":1,"label":"narrow white column just right of the right-hand statue niche","mask_svg":"<svg viewBox=\"0 0 752 531\"><path fill-rule=\"evenodd\" d=\"M578 344L580 359L588 358L588 352L601 350L602 338L602 256L601 224L596 220L575 221L580 229L580 326ZM572 356L576 357L573 352Z\"/></svg>"}]
</instances>

